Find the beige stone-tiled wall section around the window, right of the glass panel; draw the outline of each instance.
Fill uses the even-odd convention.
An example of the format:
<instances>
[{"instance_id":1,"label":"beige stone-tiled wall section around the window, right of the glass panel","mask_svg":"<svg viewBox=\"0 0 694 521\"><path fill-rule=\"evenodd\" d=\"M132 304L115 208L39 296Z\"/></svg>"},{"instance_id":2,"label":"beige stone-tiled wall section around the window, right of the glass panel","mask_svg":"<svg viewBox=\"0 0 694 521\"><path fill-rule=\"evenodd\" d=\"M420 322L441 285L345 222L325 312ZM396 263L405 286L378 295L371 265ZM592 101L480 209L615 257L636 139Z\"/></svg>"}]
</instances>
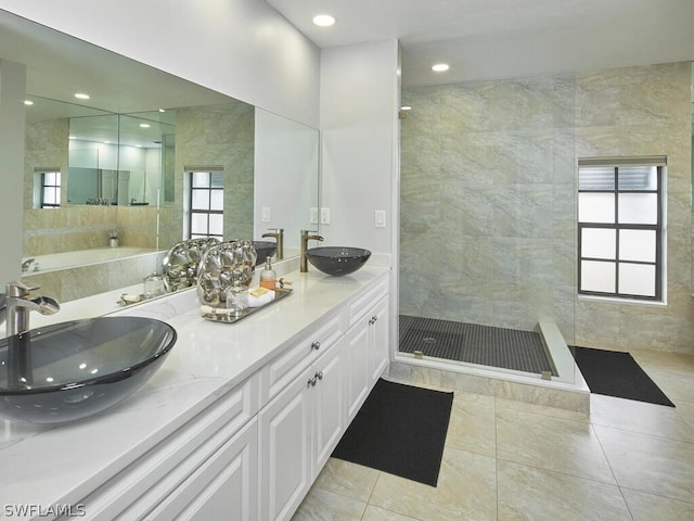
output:
<instances>
[{"instance_id":1,"label":"beige stone-tiled wall section around the window, right of the glass panel","mask_svg":"<svg viewBox=\"0 0 694 521\"><path fill-rule=\"evenodd\" d=\"M692 66L676 63L576 76L576 154L667 155L668 305L578 301L582 345L694 353Z\"/></svg>"}]
</instances>

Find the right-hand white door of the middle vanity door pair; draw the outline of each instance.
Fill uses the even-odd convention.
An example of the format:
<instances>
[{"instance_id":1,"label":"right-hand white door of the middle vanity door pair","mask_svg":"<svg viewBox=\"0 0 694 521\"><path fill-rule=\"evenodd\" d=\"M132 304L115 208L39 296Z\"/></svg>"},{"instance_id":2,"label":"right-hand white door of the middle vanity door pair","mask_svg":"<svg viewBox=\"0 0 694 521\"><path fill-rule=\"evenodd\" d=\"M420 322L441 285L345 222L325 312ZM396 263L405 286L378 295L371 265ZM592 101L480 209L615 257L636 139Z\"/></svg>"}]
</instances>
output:
<instances>
[{"instance_id":1,"label":"right-hand white door of the middle vanity door pair","mask_svg":"<svg viewBox=\"0 0 694 521\"><path fill-rule=\"evenodd\" d=\"M333 345L313 365L313 476L337 446L345 429L344 373L342 343ZM312 380L311 380L312 381Z\"/></svg>"}]
</instances>

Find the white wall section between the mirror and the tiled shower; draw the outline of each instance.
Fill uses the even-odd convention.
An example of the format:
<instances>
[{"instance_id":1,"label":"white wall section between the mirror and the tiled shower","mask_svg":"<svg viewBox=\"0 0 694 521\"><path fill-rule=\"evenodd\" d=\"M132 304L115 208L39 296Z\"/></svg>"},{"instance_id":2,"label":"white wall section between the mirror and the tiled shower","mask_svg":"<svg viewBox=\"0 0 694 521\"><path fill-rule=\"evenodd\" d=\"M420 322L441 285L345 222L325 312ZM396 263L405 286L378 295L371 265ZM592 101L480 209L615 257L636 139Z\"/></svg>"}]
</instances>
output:
<instances>
[{"instance_id":1,"label":"white wall section between the mirror and the tiled shower","mask_svg":"<svg viewBox=\"0 0 694 521\"><path fill-rule=\"evenodd\" d=\"M325 245L391 253L398 149L398 43L324 49L321 54L321 225ZM374 211L386 227L374 226Z\"/></svg>"}]
</instances>

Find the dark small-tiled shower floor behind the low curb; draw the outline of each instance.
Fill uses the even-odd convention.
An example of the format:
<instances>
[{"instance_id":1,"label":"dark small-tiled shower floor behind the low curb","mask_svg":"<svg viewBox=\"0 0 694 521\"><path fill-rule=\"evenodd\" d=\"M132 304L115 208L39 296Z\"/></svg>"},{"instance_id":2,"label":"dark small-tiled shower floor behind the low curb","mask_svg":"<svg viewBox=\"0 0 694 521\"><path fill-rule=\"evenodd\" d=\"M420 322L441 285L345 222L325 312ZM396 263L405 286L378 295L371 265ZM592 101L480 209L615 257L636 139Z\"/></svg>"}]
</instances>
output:
<instances>
[{"instance_id":1,"label":"dark small-tiled shower floor behind the low curb","mask_svg":"<svg viewBox=\"0 0 694 521\"><path fill-rule=\"evenodd\" d=\"M540 333L400 315L400 352L557 376Z\"/></svg>"}]
</instances>

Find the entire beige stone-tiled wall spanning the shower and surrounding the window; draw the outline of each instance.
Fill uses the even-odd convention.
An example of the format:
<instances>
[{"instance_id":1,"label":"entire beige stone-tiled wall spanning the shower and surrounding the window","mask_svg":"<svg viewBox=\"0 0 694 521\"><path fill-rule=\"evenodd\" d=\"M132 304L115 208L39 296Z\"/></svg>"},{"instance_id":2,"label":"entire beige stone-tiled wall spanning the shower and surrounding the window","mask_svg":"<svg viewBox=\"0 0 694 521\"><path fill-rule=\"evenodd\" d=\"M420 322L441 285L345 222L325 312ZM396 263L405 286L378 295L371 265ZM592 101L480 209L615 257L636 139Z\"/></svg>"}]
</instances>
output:
<instances>
[{"instance_id":1,"label":"entire beige stone-tiled wall spanning the shower and surrounding the window","mask_svg":"<svg viewBox=\"0 0 694 521\"><path fill-rule=\"evenodd\" d=\"M691 64L406 89L400 313L694 353ZM576 157L668 156L668 305L580 301Z\"/></svg>"}]
</instances>

